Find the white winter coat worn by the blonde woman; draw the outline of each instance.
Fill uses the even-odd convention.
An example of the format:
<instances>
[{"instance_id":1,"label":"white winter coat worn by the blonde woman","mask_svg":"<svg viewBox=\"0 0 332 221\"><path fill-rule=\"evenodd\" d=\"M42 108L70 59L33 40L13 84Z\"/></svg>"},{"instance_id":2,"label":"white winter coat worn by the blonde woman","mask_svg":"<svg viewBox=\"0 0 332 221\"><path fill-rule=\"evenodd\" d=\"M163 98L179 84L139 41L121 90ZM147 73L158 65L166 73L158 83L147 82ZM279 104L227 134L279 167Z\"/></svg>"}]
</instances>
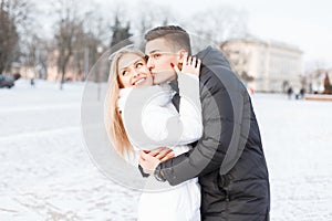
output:
<instances>
[{"instance_id":1,"label":"white winter coat worn by the blonde woman","mask_svg":"<svg viewBox=\"0 0 332 221\"><path fill-rule=\"evenodd\" d=\"M123 88L118 108L128 138L136 150L172 148L176 156L190 149L203 134L199 80L193 74L179 74L179 112L172 103L175 92L168 84L141 88ZM132 159L138 165L138 157ZM160 189L156 191L156 186ZM154 187L154 191L151 190ZM178 186L147 178L138 204L141 221L199 221L200 187L194 178Z\"/></svg>"}]
</instances>

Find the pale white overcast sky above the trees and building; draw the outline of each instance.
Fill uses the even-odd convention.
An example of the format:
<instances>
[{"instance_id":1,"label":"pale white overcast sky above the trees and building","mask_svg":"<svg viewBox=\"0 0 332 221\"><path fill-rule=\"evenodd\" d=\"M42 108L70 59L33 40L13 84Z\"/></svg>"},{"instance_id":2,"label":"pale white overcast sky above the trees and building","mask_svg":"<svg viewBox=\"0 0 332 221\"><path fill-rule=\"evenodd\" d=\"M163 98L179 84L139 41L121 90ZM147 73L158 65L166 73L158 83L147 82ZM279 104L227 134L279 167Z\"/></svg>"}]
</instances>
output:
<instances>
[{"instance_id":1,"label":"pale white overcast sky above the trees and building","mask_svg":"<svg viewBox=\"0 0 332 221\"><path fill-rule=\"evenodd\" d=\"M45 1L34 0L40 3ZM115 3L137 4L144 10L147 0L91 0L101 11L112 11ZM170 8L180 18L190 17L214 6L227 4L248 13L249 32L262 40L274 40L303 51L304 70L332 67L332 1L328 0L167 0L151 1ZM208 2L208 3L207 3ZM141 4L139 4L141 3ZM82 6L83 7L83 6ZM96 8L97 9L97 8Z\"/></svg>"}]
</instances>

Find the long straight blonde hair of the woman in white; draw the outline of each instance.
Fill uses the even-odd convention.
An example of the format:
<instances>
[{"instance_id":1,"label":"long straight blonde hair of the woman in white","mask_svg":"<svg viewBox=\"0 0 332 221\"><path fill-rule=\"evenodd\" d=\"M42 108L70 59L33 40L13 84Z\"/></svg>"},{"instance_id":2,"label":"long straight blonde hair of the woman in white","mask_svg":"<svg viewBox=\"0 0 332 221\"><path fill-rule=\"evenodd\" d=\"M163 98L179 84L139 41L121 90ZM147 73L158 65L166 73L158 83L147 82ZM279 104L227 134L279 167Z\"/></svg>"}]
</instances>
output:
<instances>
[{"instance_id":1,"label":"long straight blonde hair of the woman in white","mask_svg":"<svg viewBox=\"0 0 332 221\"><path fill-rule=\"evenodd\" d=\"M135 49L123 49L113 56L108 76L108 92L105 101L105 117L106 117L106 130L114 148L122 155L131 155L134 148L128 139L127 133L125 130L121 112L117 108L117 99L120 96L120 88L122 85L118 80L118 61L125 54L136 54L145 59L145 54Z\"/></svg>"}]
</instances>

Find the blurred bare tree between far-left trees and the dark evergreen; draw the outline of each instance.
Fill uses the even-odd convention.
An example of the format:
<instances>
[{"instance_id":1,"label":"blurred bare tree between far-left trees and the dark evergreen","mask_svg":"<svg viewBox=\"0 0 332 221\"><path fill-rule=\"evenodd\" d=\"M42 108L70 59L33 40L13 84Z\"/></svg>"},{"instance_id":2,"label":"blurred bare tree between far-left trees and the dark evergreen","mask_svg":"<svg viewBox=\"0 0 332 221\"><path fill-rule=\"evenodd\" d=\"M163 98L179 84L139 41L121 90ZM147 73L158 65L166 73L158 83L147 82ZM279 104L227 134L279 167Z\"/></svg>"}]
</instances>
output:
<instances>
[{"instance_id":1,"label":"blurred bare tree between far-left trees and the dark evergreen","mask_svg":"<svg viewBox=\"0 0 332 221\"><path fill-rule=\"evenodd\" d=\"M83 74L96 62L97 49L104 48L105 24L96 10L81 9L76 0L59 0L58 4L54 40L62 88L69 70L75 80L83 80Z\"/></svg>"}]
</instances>

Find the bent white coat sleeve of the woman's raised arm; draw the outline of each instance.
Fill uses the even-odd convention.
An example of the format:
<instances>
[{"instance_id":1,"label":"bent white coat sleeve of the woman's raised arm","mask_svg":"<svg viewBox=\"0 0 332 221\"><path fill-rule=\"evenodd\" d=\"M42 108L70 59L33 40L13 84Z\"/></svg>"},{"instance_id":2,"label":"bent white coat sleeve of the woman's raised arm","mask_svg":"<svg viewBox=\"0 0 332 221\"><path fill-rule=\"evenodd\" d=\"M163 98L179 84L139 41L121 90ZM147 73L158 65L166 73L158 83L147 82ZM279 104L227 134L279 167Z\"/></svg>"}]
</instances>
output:
<instances>
[{"instance_id":1,"label":"bent white coat sleeve of the woman's raised arm","mask_svg":"<svg viewBox=\"0 0 332 221\"><path fill-rule=\"evenodd\" d=\"M146 147L173 147L198 140L203 134L199 80L191 74L178 75L179 113L174 108L154 105L143 112L143 128L154 140ZM173 105L169 103L169 105Z\"/></svg>"}]
</instances>

